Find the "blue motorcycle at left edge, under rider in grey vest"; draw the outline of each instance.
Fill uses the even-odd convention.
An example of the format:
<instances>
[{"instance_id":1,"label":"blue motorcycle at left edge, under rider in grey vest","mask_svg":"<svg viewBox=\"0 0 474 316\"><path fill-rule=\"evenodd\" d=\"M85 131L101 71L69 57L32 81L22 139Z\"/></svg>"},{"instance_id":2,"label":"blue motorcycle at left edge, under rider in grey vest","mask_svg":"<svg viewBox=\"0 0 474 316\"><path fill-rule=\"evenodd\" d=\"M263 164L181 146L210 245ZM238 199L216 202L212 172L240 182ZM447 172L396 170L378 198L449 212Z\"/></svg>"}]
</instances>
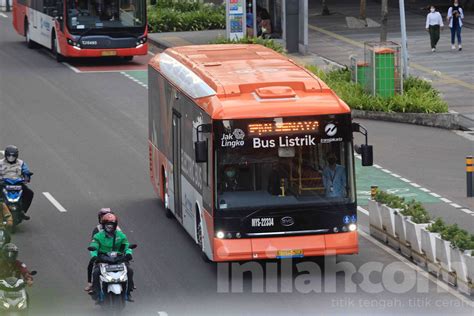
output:
<instances>
[{"instance_id":1,"label":"blue motorcycle at left edge, under rider in grey vest","mask_svg":"<svg viewBox=\"0 0 474 316\"><path fill-rule=\"evenodd\" d=\"M30 174L30 176L32 175L33 173ZM14 228L23 221L23 184L27 182L28 181L25 178L3 179L3 200L12 213L12 232L14 232Z\"/></svg>"}]
</instances>

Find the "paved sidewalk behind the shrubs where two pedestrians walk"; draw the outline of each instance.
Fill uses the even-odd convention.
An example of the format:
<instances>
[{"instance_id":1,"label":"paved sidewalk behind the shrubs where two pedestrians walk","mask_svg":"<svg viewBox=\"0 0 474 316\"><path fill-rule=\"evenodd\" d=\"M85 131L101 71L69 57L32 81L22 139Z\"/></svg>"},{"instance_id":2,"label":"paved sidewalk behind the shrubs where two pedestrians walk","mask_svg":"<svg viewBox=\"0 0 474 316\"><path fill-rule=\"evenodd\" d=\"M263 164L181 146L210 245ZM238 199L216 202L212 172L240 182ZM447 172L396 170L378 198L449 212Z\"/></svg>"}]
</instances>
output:
<instances>
[{"instance_id":1,"label":"paved sidewalk behind the shrubs where two pedestrians walk","mask_svg":"<svg viewBox=\"0 0 474 316\"><path fill-rule=\"evenodd\" d=\"M364 42L379 39L377 22L380 19L380 4L373 0L367 1L368 22L373 27L354 28L357 25L354 22L359 14L359 1L338 1L337 6L329 7L329 16L320 15L318 1L312 3L308 18L310 54L291 55L290 58L320 67L327 65L325 61L348 65L351 55L363 60ZM472 16L466 19L472 20ZM461 113L464 126L474 129L474 30L463 28L463 51L459 52L451 50L449 29L445 28L441 33L438 51L432 53L425 31L425 16L420 15L419 11L407 10L406 26L410 73L431 80L448 102L450 111ZM219 36L224 37L225 31L149 34L150 41L161 48L207 44ZM400 42L399 12L396 7L389 8L388 40Z\"/></svg>"}]
</instances>

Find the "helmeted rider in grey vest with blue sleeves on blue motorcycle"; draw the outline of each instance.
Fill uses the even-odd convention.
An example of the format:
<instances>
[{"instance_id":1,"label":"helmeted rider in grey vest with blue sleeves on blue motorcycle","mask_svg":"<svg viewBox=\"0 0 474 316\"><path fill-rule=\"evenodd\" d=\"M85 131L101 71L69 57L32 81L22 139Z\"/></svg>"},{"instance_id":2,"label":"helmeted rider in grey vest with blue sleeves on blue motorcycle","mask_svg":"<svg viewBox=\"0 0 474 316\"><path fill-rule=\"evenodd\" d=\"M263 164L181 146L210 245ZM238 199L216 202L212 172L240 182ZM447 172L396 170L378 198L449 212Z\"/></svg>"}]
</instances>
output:
<instances>
[{"instance_id":1,"label":"helmeted rider in grey vest with blue sleeves on blue motorcycle","mask_svg":"<svg viewBox=\"0 0 474 316\"><path fill-rule=\"evenodd\" d=\"M0 181L3 182L3 179L18 179L23 177L26 183L30 182L32 173L28 168L28 165L23 160L18 159L18 147L14 145L8 145L5 147L3 155L4 158L0 160ZM22 217L24 220L28 220L30 217L26 215L26 212L30 208L31 202L33 201L34 193L25 183L22 183L22 187Z\"/></svg>"}]
</instances>

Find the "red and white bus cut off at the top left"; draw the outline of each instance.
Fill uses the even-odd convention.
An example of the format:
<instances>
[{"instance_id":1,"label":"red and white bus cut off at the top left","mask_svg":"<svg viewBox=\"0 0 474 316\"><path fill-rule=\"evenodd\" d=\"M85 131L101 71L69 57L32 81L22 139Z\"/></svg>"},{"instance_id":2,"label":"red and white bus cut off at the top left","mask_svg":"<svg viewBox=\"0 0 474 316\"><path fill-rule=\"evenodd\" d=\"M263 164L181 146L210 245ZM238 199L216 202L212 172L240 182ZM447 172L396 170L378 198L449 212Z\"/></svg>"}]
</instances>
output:
<instances>
[{"instance_id":1,"label":"red and white bus cut off at the top left","mask_svg":"<svg viewBox=\"0 0 474 316\"><path fill-rule=\"evenodd\" d=\"M13 26L58 61L148 52L145 0L13 0Z\"/></svg>"}]
</instances>

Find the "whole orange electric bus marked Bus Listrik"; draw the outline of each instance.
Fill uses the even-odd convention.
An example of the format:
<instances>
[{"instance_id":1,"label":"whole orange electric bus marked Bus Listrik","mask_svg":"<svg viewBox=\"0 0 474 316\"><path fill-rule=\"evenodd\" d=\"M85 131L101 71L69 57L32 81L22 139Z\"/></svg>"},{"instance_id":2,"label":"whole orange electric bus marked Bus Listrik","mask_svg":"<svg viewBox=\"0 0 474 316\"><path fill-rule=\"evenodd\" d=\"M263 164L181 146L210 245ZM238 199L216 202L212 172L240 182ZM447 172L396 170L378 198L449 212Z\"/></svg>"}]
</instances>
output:
<instances>
[{"instance_id":1,"label":"whole orange electric bus marked Bus Listrik","mask_svg":"<svg viewBox=\"0 0 474 316\"><path fill-rule=\"evenodd\" d=\"M320 79L259 45L167 49L148 74L151 182L206 259L358 252L367 134Z\"/></svg>"}]
</instances>

